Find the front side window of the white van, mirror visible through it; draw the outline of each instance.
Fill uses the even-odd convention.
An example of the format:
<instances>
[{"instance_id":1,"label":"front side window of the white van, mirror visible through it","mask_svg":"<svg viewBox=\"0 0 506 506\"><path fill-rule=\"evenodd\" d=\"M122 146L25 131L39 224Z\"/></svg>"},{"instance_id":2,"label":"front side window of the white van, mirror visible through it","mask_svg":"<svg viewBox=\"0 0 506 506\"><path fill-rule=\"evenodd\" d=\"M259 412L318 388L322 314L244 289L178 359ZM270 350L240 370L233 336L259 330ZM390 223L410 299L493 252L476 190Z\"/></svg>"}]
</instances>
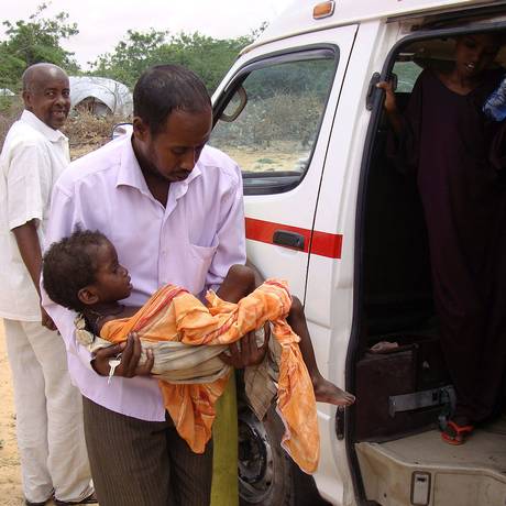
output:
<instances>
[{"instance_id":1,"label":"front side window of the white van, mirror visible through it","mask_svg":"<svg viewBox=\"0 0 506 506\"><path fill-rule=\"evenodd\" d=\"M302 179L334 72L334 51L320 51L272 58L237 79L210 144L238 162L246 195L286 191Z\"/></svg>"}]
</instances>

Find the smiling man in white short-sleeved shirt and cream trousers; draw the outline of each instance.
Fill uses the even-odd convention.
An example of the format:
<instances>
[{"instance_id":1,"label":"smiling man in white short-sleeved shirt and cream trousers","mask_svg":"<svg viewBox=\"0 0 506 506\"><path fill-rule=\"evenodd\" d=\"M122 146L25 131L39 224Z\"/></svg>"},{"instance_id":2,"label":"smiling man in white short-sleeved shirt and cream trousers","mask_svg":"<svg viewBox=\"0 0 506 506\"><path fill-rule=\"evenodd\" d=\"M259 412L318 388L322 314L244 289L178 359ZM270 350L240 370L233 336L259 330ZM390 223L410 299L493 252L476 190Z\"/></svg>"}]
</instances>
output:
<instances>
[{"instance_id":1,"label":"smiling man in white short-sleeved shirt and cream trousers","mask_svg":"<svg viewBox=\"0 0 506 506\"><path fill-rule=\"evenodd\" d=\"M70 109L67 75L51 64L29 67L23 100L25 110L0 155L0 317L14 384L23 492L29 506L44 505L53 495L58 506L90 503L81 398L70 383L65 344L40 297L51 191L69 163L68 140L58 130Z\"/></svg>"}]
</instances>

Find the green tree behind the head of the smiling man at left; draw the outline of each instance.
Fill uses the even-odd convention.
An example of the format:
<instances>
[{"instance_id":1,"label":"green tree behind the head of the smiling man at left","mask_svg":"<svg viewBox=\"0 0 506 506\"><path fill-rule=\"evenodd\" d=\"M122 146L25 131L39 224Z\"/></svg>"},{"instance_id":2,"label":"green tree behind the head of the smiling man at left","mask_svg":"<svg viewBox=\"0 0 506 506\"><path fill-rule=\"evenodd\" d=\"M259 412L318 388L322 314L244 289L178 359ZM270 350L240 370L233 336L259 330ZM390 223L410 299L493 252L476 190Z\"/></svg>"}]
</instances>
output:
<instances>
[{"instance_id":1,"label":"green tree behind the head of the smiling man at left","mask_svg":"<svg viewBox=\"0 0 506 506\"><path fill-rule=\"evenodd\" d=\"M29 21L3 21L7 38L0 42L0 87L20 88L23 70L35 63L48 62L69 73L78 70L74 53L64 50L62 41L79 33L68 14L59 12L44 18L42 3Z\"/></svg>"}]
</instances>

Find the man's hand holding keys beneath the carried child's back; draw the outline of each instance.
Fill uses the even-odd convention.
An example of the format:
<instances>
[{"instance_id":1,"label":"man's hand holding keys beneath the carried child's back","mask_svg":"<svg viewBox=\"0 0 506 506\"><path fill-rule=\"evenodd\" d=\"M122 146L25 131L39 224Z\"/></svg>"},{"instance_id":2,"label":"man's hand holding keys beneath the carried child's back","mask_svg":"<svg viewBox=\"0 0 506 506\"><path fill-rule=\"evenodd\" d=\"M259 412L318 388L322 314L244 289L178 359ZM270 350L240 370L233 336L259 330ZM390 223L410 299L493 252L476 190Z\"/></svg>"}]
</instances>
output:
<instances>
[{"instance_id":1,"label":"man's hand holding keys beneath the carried child's back","mask_svg":"<svg viewBox=\"0 0 506 506\"><path fill-rule=\"evenodd\" d=\"M147 376L154 364L154 355L152 350L147 350L147 360L144 365L139 365L141 359L141 340L135 332L129 334L125 342L116 344L109 348L99 350L95 360L91 362L95 371L101 376L109 376L110 365L109 360L114 359L121 353L121 362L116 367L114 376L133 377L133 376Z\"/></svg>"}]
</instances>

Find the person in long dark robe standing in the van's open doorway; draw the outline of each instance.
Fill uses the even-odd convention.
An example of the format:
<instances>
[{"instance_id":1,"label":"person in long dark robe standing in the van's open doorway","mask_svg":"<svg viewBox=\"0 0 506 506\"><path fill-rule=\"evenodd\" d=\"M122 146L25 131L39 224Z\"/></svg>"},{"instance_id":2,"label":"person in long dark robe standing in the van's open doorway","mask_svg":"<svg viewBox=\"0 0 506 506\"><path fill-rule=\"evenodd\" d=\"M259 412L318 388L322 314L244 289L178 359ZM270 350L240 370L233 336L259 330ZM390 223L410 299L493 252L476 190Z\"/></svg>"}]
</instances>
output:
<instances>
[{"instance_id":1,"label":"person in long dark robe standing in the van's open doorway","mask_svg":"<svg viewBox=\"0 0 506 506\"><path fill-rule=\"evenodd\" d=\"M429 235L441 343L457 391L443 439L460 444L498 405L506 365L505 124L483 103L504 69L490 70L498 37L459 37L449 73L426 69L400 114L385 109L396 163L417 178Z\"/></svg>"}]
</instances>

